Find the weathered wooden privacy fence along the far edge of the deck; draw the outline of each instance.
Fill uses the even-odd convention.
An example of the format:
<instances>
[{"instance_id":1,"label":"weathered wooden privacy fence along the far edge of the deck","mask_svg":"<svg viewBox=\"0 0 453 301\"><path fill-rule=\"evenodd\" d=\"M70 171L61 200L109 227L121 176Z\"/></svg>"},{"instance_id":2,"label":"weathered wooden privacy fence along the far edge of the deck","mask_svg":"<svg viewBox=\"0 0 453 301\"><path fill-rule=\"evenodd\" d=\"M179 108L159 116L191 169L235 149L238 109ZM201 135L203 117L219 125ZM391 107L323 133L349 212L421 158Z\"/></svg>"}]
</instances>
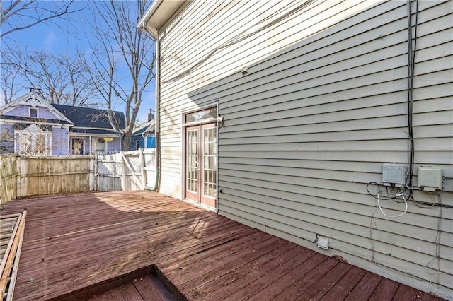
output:
<instances>
[{"instance_id":1,"label":"weathered wooden privacy fence along the far edge of the deck","mask_svg":"<svg viewBox=\"0 0 453 301\"><path fill-rule=\"evenodd\" d=\"M95 156L0 155L0 204L41 194L153 187L155 155L154 148Z\"/></svg>"}]
</instances>

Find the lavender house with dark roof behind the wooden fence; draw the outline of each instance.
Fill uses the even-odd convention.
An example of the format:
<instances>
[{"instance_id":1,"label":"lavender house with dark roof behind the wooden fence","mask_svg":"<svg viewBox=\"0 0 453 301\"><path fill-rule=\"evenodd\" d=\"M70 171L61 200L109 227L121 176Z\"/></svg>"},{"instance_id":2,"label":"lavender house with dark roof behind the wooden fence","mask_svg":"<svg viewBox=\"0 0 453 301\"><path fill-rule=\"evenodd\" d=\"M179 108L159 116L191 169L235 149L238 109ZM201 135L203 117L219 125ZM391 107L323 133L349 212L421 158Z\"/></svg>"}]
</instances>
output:
<instances>
[{"instance_id":1,"label":"lavender house with dark roof behind the wooden fence","mask_svg":"<svg viewBox=\"0 0 453 301\"><path fill-rule=\"evenodd\" d=\"M87 155L120 151L105 110L51 104L34 91L0 108L2 153ZM122 129L125 117L115 112Z\"/></svg>"}]
</instances>

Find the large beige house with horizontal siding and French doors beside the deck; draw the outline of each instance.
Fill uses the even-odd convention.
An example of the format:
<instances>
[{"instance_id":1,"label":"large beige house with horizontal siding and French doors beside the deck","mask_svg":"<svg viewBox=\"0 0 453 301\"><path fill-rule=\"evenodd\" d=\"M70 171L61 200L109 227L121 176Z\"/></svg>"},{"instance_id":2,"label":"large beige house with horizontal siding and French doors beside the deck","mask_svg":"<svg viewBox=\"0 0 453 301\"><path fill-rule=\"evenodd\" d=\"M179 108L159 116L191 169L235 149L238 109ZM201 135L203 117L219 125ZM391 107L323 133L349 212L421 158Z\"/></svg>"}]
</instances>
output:
<instances>
[{"instance_id":1,"label":"large beige house with horizontal siding and French doors beside the deck","mask_svg":"<svg viewBox=\"0 0 453 301\"><path fill-rule=\"evenodd\" d=\"M160 56L159 191L451 299L452 18L451 1L156 0L139 26Z\"/></svg>"}]
</instances>

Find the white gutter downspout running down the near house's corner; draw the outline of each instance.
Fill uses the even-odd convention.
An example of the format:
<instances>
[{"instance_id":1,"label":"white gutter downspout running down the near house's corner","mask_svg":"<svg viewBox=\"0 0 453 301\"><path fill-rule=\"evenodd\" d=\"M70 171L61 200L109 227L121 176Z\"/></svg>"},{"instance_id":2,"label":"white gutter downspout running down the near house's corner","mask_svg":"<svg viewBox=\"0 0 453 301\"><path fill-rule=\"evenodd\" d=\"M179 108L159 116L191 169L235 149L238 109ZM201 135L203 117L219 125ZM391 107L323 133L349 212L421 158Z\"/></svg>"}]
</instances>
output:
<instances>
[{"instance_id":1,"label":"white gutter downspout running down the near house's corner","mask_svg":"<svg viewBox=\"0 0 453 301\"><path fill-rule=\"evenodd\" d=\"M147 30L147 28L144 26L142 29ZM147 30L147 33L149 31ZM150 33L151 34L151 33ZM151 34L152 35L152 34ZM154 36L154 35L152 35ZM155 51L156 51L156 121L155 121L155 131L154 135L156 136L156 181L154 182L154 187L147 187L145 186L144 189L150 190L150 191L158 191L159 190L159 181L161 177L161 170L160 170L160 165L161 165L161 160L160 160L160 153L161 153L161 148L160 148L160 102L161 102L161 43L159 41L159 37L155 37Z\"/></svg>"}]
</instances>

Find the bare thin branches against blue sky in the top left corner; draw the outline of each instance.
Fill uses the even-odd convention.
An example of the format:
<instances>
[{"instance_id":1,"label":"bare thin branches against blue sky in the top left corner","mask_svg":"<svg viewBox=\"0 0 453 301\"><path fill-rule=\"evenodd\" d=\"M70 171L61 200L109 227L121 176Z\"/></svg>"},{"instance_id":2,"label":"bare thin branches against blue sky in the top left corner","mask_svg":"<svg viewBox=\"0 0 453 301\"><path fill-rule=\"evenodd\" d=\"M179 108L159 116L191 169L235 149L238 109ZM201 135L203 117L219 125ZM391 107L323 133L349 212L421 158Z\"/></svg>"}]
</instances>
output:
<instances>
[{"instance_id":1,"label":"bare thin branches against blue sky in the top left corner","mask_svg":"<svg viewBox=\"0 0 453 301\"><path fill-rule=\"evenodd\" d=\"M4 2L0 7L0 37L25 30L40 23L52 22L55 18L61 18L69 13L83 10L75 8L77 1L38 1L38 0L12 0Z\"/></svg>"}]
</instances>

